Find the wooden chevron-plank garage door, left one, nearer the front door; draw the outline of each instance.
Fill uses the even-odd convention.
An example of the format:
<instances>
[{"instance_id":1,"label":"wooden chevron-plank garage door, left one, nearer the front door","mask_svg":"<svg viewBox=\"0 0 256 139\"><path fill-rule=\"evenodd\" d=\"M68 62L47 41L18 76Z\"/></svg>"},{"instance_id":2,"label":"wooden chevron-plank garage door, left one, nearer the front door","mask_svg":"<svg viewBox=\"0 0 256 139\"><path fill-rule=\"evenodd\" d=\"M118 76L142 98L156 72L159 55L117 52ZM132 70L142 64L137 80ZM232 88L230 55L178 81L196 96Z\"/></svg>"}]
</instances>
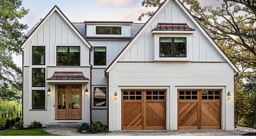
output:
<instances>
[{"instance_id":1,"label":"wooden chevron-plank garage door, left one, nearer the front door","mask_svg":"<svg viewBox=\"0 0 256 139\"><path fill-rule=\"evenodd\" d=\"M166 129L165 91L122 91L122 129Z\"/></svg>"}]
</instances>

